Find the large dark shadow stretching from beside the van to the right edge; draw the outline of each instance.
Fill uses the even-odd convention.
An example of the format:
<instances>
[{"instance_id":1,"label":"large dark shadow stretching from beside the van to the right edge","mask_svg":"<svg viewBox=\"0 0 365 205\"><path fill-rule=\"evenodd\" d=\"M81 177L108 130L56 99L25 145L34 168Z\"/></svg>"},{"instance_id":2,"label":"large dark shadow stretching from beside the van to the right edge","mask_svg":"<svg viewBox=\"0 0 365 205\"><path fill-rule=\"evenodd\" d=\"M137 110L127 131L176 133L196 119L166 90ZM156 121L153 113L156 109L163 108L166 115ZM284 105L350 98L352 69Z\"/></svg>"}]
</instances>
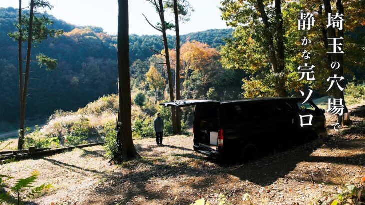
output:
<instances>
[{"instance_id":1,"label":"large dark shadow stretching from beside the van to the right edge","mask_svg":"<svg viewBox=\"0 0 365 205\"><path fill-rule=\"evenodd\" d=\"M343 146L347 149L363 148L363 143L360 144L360 142L363 141L365 140L340 141L340 144L336 145L341 147L341 149ZM331 147L333 145L333 143L328 145L326 144L327 147ZM239 177L241 180L248 180L261 186L267 186L271 185L278 178L284 177L290 171L293 171L296 165L300 162L365 165L365 161L363 160L365 154L357 154L347 157L312 156L311 154L314 151L315 150L311 148L310 143L307 143L286 152L269 155L257 161L243 164L236 169L228 171L228 173Z\"/></svg>"}]
</instances>

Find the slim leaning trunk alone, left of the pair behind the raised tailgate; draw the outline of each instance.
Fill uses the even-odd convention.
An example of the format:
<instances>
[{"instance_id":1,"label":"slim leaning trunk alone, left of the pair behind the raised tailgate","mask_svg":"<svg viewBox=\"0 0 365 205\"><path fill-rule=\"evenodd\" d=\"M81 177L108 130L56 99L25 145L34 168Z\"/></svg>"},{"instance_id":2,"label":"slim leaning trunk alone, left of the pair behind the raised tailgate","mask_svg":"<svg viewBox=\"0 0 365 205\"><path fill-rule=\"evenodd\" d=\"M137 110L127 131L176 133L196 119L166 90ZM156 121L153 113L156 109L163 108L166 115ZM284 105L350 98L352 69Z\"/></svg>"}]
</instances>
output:
<instances>
[{"instance_id":1,"label":"slim leaning trunk alone, left of the pair behind the raised tailgate","mask_svg":"<svg viewBox=\"0 0 365 205\"><path fill-rule=\"evenodd\" d=\"M174 101L175 97L174 97L174 94L173 94L171 64L170 64L170 56L169 56L169 53L168 53L166 25L165 25L165 18L164 18L164 10L163 10L162 0L158 0L158 4L159 4L159 17L161 19L161 26L162 26L163 46L164 46L164 49L165 49L168 87L169 87L169 90L170 90L170 100ZM175 108L172 107L172 106L171 106L171 119L172 119L173 133L177 133L176 113L175 113Z\"/></svg>"}]
</instances>

